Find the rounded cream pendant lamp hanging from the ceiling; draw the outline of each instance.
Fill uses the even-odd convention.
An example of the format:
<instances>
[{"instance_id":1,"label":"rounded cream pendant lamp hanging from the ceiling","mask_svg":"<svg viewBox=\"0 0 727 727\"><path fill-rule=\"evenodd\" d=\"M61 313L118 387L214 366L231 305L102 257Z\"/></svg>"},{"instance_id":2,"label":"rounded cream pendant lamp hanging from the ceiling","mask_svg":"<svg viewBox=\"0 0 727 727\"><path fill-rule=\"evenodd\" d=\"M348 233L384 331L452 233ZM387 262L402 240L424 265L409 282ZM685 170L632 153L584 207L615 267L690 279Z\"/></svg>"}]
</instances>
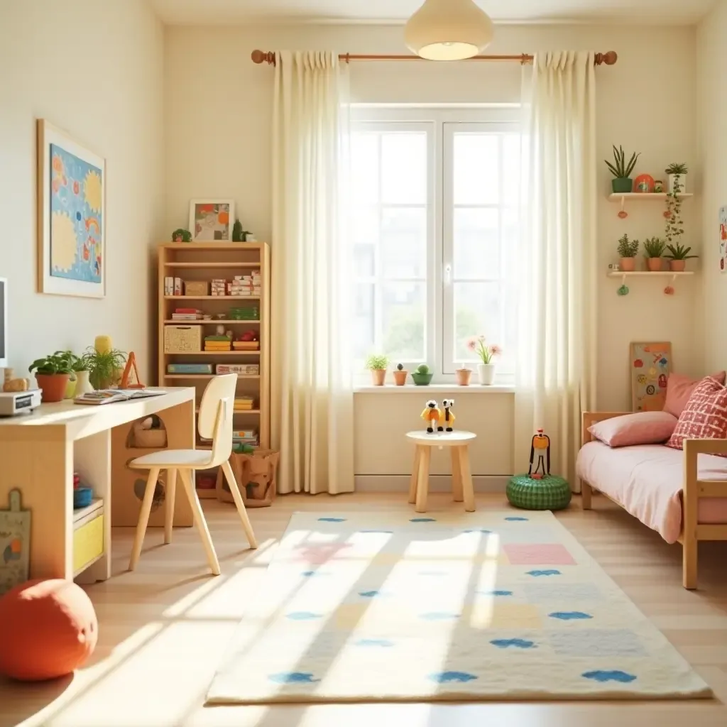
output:
<instances>
[{"instance_id":1,"label":"rounded cream pendant lamp hanging from the ceiling","mask_svg":"<svg viewBox=\"0 0 727 727\"><path fill-rule=\"evenodd\" d=\"M489 15L473 0L425 0L409 18L404 41L427 60L465 60L492 42Z\"/></svg>"}]
</instances>

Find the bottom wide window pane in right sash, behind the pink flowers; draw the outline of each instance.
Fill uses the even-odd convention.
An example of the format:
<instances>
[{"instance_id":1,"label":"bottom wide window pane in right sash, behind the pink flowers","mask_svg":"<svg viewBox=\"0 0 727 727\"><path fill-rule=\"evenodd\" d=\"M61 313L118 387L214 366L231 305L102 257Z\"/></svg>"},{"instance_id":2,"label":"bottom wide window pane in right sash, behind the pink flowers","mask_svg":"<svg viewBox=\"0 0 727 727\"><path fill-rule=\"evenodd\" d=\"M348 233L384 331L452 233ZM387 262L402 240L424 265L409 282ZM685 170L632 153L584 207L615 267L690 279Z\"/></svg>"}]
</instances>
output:
<instances>
[{"instance_id":1,"label":"bottom wide window pane in right sash, behind the pink flowers","mask_svg":"<svg viewBox=\"0 0 727 727\"><path fill-rule=\"evenodd\" d=\"M477 362L467 350L470 336L483 334L487 342L504 347L502 297L499 283L454 284L454 361Z\"/></svg>"}]
</instances>

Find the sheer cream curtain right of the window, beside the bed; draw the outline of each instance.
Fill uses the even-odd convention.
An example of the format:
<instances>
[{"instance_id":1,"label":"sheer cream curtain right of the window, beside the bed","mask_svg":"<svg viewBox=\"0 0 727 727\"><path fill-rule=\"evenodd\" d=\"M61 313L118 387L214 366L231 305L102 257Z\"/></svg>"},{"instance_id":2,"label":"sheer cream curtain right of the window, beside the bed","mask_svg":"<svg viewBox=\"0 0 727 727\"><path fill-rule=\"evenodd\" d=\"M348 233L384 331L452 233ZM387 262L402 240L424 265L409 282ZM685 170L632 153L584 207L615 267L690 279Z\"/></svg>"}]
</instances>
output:
<instances>
[{"instance_id":1,"label":"sheer cream curtain right of the window, beside the bed","mask_svg":"<svg viewBox=\"0 0 727 727\"><path fill-rule=\"evenodd\" d=\"M518 276L515 471L550 435L552 472L574 476L580 414L595 404L596 158L592 52L537 55L523 76L525 190Z\"/></svg>"}]
</instances>

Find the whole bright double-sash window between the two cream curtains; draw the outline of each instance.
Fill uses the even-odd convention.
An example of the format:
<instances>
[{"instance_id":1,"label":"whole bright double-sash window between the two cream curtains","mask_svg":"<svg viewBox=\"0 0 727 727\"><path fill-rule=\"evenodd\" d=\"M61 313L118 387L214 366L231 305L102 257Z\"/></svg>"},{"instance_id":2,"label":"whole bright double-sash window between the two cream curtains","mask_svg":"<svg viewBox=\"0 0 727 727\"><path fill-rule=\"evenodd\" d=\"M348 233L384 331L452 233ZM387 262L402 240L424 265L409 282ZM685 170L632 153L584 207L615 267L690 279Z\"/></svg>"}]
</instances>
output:
<instances>
[{"instance_id":1,"label":"whole bright double-sash window between the two cream curtains","mask_svg":"<svg viewBox=\"0 0 727 727\"><path fill-rule=\"evenodd\" d=\"M483 333L505 349L499 373L513 371L520 137L494 113L361 110L351 144L359 369L382 352L446 381L476 363L466 341Z\"/></svg>"}]
</instances>

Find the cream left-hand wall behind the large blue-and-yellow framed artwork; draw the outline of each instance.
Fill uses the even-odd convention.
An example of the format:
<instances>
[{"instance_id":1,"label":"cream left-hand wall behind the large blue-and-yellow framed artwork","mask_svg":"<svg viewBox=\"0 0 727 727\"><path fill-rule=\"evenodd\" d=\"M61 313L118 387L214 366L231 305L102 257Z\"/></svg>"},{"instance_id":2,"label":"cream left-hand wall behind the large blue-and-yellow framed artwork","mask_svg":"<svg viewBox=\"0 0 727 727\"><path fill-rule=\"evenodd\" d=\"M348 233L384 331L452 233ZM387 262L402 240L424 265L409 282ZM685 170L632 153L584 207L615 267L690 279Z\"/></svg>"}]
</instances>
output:
<instances>
[{"instance_id":1,"label":"cream left-hand wall behind the large blue-and-yellow framed artwork","mask_svg":"<svg viewBox=\"0 0 727 727\"><path fill-rule=\"evenodd\" d=\"M57 349L83 350L102 333L152 370L163 46L144 0L0 2L0 276L9 281L9 365L18 372ZM106 159L103 300L36 292L38 118Z\"/></svg>"}]
</instances>

